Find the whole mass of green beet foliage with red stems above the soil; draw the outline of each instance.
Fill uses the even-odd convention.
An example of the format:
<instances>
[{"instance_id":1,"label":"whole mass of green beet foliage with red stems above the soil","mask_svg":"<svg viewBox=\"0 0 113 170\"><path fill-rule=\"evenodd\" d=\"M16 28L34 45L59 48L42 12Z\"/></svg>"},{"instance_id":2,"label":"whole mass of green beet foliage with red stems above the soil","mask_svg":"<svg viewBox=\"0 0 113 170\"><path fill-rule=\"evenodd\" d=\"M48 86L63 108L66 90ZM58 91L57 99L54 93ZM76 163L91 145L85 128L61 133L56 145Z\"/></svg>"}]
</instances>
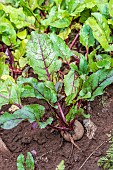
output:
<instances>
[{"instance_id":1,"label":"whole mass of green beet foliage with red stems above the soil","mask_svg":"<svg viewBox=\"0 0 113 170\"><path fill-rule=\"evenodd\" d=\"M52 124L44 106L23 106L27 97L46 101L58 119L55 128L72 129L77 114L89 117L82 101L113 82L112 16L112 0L0 3L0 108L18 107L0 117L0 126L10 129L24 119L40 128Z\"/></svg>"}]
</instances>

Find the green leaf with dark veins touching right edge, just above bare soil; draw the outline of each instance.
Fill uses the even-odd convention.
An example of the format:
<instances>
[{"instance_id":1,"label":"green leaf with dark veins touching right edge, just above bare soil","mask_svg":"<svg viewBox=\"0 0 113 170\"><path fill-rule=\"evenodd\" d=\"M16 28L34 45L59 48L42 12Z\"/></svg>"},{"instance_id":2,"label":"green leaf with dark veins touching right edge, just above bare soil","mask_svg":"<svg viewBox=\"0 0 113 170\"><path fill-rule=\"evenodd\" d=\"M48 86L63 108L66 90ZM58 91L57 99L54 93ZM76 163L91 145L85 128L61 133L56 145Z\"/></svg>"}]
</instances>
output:
<instances>
[{"instance_id":1,"label":"green leaf with dark veins touching right edge, just above bare soil","mask_svg":"<svg viewBox=\"0 0 113 170\"><path fill-rule=\"evenodd\" d=\"M96 96L102 95L106 86L113 82L113 70L98 70L84 82L80 96L93 100Z\"/></svg>"}]
</instances>

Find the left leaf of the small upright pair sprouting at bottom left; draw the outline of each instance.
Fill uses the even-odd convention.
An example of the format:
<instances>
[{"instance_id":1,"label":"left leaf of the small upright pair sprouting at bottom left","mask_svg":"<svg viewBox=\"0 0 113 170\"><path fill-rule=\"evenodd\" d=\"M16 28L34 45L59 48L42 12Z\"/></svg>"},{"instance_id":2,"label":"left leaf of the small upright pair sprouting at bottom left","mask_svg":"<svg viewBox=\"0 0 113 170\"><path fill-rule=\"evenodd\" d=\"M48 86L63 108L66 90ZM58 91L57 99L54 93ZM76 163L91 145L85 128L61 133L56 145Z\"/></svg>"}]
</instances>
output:
<instances>
[{"instance_id":1,"label":"left leaf of the small upright pair sprouting at bottom left","mask_svg":"<svg viewBox=\"0 0 113 170\"><path fill-rule=\"evenodd\" d=\"M25 170L24 155L22 153L17 157L17 170Z\"/></svg>"}]
</instances>

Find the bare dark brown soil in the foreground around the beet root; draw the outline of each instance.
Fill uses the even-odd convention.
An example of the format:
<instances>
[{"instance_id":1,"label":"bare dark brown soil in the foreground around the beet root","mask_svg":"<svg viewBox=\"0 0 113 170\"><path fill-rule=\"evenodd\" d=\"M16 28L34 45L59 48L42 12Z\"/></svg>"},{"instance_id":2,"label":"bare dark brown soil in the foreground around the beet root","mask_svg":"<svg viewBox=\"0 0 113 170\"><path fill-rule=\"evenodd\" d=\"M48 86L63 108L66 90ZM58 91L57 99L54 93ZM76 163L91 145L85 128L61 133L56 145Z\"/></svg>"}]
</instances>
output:
<instances>
[{"instance_id":1,"label":"bare dark brown soil in the foreground around the beet root","mask_svg":"<svg viewBox=\"0 0 113 170\"><path fill-rule=\"evenodd\" d=\"M51 132L49 128L32 130L31 125L25 121L12 130L0 129L0 137L11 151L10 156L0 154L0 170L17 170L17 156L20 153L26 155L28 151L32 150L37 152L37 170L55 170L61 160L65 161L65 170L79 170L86 158L108 139L107 134L113 128L112 88L113 85L103 96L96 98L91 103L91 120L97 126L97 130L94 139L89 140L85 131L83 138L76 142L81 151L73 147L70 142L64 141L59 132ZM27 102L36 103L37 100L30 99ZM7 110L7 107L4 107L1 112L4 109ZM109 143L104 143L81 169L99 170L97 161L105 154L108 147Z\"/></svg>"}]
</instances>

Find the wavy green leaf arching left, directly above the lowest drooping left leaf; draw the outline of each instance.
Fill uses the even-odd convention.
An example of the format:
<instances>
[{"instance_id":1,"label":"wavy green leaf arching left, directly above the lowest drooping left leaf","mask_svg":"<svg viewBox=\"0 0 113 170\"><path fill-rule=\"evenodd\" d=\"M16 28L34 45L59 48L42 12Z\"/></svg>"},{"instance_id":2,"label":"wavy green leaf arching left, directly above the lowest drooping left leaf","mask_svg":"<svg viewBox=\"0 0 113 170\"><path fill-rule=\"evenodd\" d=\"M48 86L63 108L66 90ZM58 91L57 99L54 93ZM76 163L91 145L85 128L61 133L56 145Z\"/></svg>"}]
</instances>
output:
<instances>
[{"instance_id":1,"label":"wavy green leaf arching left, directly above the lowest drooping left leaf","mask_svg":"<svg viewBox=\"0 0 113 170\"><path fill-rule=\"evenodd\" d=\"M23 93L21 97L36 97L44 99L49 103L57 102L57 93L53 82L38 82L35 78L18 78L18 85L23 85ZM28 86L29 85L29 86ZM30 91L27 91L27 89Z\"/></svg>"}]
</instances>

